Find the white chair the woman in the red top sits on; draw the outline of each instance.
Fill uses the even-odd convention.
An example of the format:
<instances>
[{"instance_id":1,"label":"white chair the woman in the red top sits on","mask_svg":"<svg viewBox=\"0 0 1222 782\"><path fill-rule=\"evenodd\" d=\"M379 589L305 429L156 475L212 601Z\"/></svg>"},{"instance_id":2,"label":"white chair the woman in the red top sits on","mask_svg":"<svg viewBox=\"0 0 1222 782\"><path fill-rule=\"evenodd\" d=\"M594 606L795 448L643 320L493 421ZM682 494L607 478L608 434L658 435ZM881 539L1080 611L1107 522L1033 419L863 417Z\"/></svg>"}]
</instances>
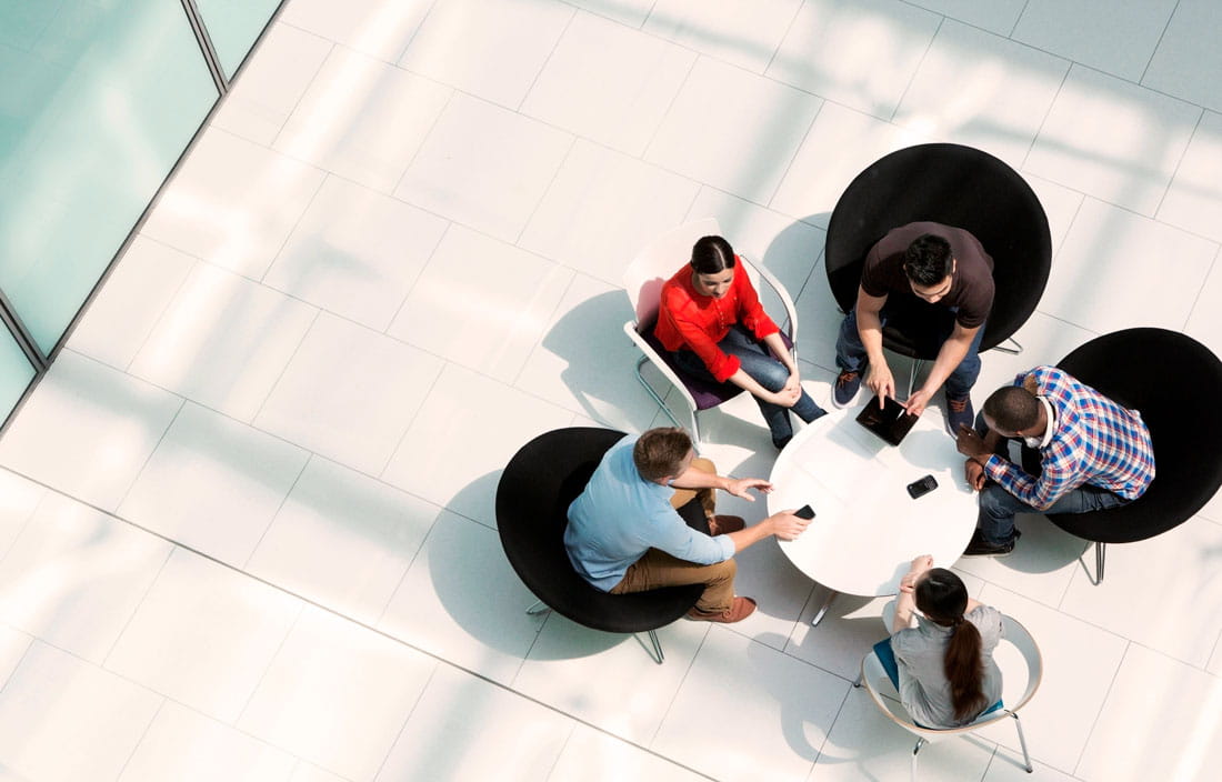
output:
<instances>
[{"instance_id":1,"label":"white chair the woman in the red top sits on","mask_svg":"<svg viewBox=\"0 0 1222 782\"><path fill-rule=\"evenodd\" d=\"M662 411L676 426L682 426L675 413L666 403L665 393L659 393L656 389L642 373L646 362L651 363L662 378L675 386L678 396L687 404L692 414L692 435L695 442L700 442L700 423L697 413L717 407L722 402L731 400L741 389L730 384L710 384L690 378L679 370L670 359L666 349L654 338L654 324L657 321L657 309L661 299L662 283L675 275L678 269L692 258L692 246L703 236L721 235L721 227L712 217L698 220L679 226L666 233L649 247L640 250L637 258L628 265L623 274L623 287L628 293L628 301L635 314L633 320L623 325L624 334L628 335L640 352L642 358L637 362L637 380L645 387L649 396L661 406ZM782 334L788 337L791 352L797 359L798 341L798 313L793 305L793 299L781 282L763 266L758 266L738 254L747 275L760 294L760 299L766 302L769 293L781 301L785 309L785 319L778 321ZM760 283L767 285L761 288ZM771 314L771 313L770 313ZM728 387L727 387L728 386Z\"/></svg>"}]
</instances>

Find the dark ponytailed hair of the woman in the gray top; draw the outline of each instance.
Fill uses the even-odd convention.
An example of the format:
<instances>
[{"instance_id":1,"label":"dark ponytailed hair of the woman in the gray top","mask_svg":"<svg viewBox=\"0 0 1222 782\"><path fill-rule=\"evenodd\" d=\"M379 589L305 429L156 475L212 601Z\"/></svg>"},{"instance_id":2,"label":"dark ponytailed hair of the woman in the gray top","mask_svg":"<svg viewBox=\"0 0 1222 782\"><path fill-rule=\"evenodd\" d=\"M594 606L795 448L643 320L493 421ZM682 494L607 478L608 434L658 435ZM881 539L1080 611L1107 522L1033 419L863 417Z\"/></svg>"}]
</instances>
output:
<instances>
[{"instance_id":1,"label":"dark ponytailed hair of the woman in the gray top","mask_svg":"<svg viewBox=\"0 0 1222 782\"><path fill-rule=\"evenodd\" d=\"M968 588L963 579L935 567L916 582L916 607L929 621L952 628L946 644L942 671L951 683L954 718L963 721L980 714L985 703L985 663L980 659L980 630L963 617L968 607Z\"/></svg>"}]
</instances>

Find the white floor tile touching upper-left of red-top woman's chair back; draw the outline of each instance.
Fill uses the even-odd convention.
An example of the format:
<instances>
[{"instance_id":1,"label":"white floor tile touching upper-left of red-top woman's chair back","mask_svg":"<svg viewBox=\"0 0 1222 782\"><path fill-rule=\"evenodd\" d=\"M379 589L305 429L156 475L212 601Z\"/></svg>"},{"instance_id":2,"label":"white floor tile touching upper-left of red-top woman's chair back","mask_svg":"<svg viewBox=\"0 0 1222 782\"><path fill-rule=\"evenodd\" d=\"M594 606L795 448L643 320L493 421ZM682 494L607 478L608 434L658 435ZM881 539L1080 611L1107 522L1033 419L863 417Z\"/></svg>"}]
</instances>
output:
<instances>
[{"instance_id":1,"label":"white floor tile touching upper-left of red-top woman's chair back","mask_svg":"<svg viewBox=\"0 0 1222 782\"><path fill-rule=\"evenodd\" d=\"M621 287L627 259L679 225L698 189L690 180L578 141L518 244Z\"/></svg>"}]
</instances>

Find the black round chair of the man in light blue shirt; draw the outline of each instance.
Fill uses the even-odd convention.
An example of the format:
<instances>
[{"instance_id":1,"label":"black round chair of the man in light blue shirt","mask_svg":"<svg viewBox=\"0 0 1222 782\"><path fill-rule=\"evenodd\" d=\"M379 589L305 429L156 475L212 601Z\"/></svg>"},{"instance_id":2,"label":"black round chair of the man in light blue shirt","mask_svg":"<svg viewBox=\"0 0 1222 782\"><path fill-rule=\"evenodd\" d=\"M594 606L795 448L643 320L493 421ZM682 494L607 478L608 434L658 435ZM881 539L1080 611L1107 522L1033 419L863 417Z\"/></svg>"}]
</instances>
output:
<instances>
[{"instance_id":1,"label":"black round chair of the man in light blue shirt","mask_svg":"<svg viewBox=\"0 0 1222 782\"><path fill-rule=\"evenodd\" d=\"M654 632L695 605L700 584L611 595L578 576L565 551L568 506L594 468L624 433L573 426L539 435L510 459L496 486L496 525L510 565L539 602L578 624L610 633L648 632L655 660L664 661Z\"/></svg>"}]
</instances>

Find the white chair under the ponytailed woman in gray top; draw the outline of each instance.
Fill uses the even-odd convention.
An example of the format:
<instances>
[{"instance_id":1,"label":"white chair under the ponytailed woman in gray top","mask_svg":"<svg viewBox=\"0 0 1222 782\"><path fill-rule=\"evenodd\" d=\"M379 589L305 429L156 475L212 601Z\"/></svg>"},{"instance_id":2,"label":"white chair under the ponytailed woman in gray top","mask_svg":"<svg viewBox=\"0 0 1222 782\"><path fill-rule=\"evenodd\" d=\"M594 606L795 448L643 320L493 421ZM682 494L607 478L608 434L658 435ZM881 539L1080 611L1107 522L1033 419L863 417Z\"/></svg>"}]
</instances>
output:
<instances>
[{"instance_id":1,"label":"white chair under the ponytailed woman in gray top","mask_svg":"<svg viewBox=\"0 0 1222 782\"><path fill-rule=\"evenodd\" d=\"M923 728L916 725L899 704L899 693L897 693L896 688L891 684L891 678L887 676L887 672L884 670L882 663L879 661L879 656L874 652L874 650L871 649L865 657L862 659L862 676L853 683L853 685L860 687L864 683L866 692L870 693L870 698L874 699L874 705L879 707L879 711L903 729L916 736L916 745L913 747L912 761L913 782L916 782L918 753L920 753L921 747L926 743L935 742L948 736L965 736L974 731L979 731L986 725L1000 722L1007 717L1014 718L1014 728L1018 731L1018 743L1023 748L1024 769L1028 773L1031 773L1034 770L1034 766L1031 766L1031 758L1026 753L1026 739L1023 737L1023 725L1019 722L1017 712L1026 705L1026 701L1031 700L1031 695L1034 695L1035 690L1039 689L1040 679L1044 676L1044 661L1040 656L1040 648L1035 644L1035 639L1031 638L1031 634L1026 632L1026 628L1023 627L1022 623L1004 615L1002 615L1001 621L1004 630L1002 643L1008 641L1013 644L1018 649L1019 655L1022 655L1023 661L1026 663L1026 689L1018 699L1018 703L1002 706L991 714L981 715L974 722L959 728L932 729ZM997 659L996 652L993 659ZM1001 663L1001 661L998 661L998 663ZM1008 666L1002 666L1002 677L1019 674L1019 671L1007 671L1007 667Z\"/></svg>"}]
</instances>

